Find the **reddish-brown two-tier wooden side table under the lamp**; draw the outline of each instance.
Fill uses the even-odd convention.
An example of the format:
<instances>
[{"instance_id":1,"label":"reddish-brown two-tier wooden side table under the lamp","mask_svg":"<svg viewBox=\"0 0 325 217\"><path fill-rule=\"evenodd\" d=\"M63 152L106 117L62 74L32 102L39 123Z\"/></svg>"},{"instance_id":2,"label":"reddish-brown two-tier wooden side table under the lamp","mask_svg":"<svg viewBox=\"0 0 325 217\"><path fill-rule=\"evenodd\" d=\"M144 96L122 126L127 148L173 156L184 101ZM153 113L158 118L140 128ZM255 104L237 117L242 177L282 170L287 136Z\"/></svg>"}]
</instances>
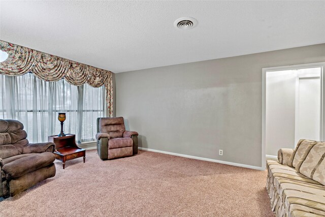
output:
<instances>
[{"instance_id":1,"label":"reddish-brown two-tier wooden side table under the lamp","mask_svg":"<svg viewBox=\"0 0 325 217\"><path fill-rule=\"evenodd\" d=\"M76 144L76 135L67 134L66 136L49 136L49 142L55 144L55 158L62 162L63 169L66 166L66 161L83 157L83 163L86 159L86 150L79 148Z\"/></svg>"}]
</instances>

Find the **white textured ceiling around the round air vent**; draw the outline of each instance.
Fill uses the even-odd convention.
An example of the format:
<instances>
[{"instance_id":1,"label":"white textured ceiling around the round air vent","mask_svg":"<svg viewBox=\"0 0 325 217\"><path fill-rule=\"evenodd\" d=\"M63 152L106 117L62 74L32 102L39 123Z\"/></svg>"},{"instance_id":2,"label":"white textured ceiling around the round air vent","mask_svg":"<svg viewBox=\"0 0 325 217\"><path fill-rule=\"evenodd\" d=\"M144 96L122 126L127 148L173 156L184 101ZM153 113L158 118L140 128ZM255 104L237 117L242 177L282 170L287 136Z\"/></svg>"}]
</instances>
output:
<instances>
[{"instance_id":1,"label":"white textured ceiling around the round air vent","mask_svg":"<svg viewBox=\"0 0 325 217\"><path fill-rule=\"evenodd\" d=\"M1 1L0 39L112 72L325 43L324 1ZM194 17L192 29L174 21Z\"/></svg>"}]
</instances>

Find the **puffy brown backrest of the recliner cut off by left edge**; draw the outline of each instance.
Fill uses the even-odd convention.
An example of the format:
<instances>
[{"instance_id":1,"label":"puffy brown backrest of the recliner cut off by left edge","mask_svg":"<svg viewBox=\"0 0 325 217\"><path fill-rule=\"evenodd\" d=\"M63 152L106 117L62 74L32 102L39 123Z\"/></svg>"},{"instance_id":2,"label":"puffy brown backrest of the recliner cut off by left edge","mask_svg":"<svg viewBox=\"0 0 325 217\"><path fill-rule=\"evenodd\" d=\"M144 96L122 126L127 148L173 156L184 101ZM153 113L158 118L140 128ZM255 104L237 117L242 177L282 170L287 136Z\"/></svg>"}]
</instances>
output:
<instances>
[{"instance_id":1,"label":"puffy brown backrest of the recliner cut off by left edge","mask_svg":"<svg viewBox=\"0 0 325 217\"><path fill-rule=\"evenodd\" d=\"M21 154L28 144L24 125L18 120L0 119L0 158L5 159Z\"/></svg>"}]
</instances>

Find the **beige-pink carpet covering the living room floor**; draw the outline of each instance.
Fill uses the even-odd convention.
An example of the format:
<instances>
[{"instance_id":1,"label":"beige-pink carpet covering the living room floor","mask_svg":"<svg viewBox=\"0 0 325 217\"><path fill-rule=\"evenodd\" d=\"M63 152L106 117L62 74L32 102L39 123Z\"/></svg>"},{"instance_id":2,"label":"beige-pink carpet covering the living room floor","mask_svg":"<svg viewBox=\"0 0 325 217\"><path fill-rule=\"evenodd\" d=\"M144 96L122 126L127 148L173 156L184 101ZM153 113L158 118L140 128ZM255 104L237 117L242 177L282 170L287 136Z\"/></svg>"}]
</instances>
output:
<instances>
[{"instance_id":1,"label":"beige-pink carpet covering the living room floor","mask_svg":"<svg viewBox=\"0 0 325 217\"><path fill-rule=\"evenodd\" d=\"M2 199L0 216L275 216L266 171L139 152L55 161L55 177Z\"/></svg>"}]
</instances>

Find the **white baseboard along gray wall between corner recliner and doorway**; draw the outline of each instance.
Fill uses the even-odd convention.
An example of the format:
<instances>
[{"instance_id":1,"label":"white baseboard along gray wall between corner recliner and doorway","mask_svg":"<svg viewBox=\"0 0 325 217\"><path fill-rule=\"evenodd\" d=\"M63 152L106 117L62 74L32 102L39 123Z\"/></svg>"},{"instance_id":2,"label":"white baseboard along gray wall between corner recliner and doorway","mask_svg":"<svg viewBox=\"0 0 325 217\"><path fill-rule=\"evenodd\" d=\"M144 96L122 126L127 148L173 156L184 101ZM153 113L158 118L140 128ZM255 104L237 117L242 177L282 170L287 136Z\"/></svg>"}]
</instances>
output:
<instances>
[{"instance_id":1,"label":"white baseboard along gray wall between corner recliner and doorway","mask_svg":"<svg viewBox=\"0 0 325 217\"><path fill-rule=\"evenodd\" d=\"M210 161L210 162L215 162L215 163L219 163L219 164L232 165L232 166L236 166L236 167L245 167L245 168L254 169L254 170L264 170L262 167L256 167L256 166L251 166L251 165L246 165L246 164L238 164L238 163L227 162L227 161L219 161L219 160L214 160L214 159L210 159L210 158L201 158L201 157L190 156L190 155L180 154L180 153L173 153L173 152L168 152L168 151L160 151L160 150L155 150L155 149L151 149L151 148L139 147L138 149L145 150L145 151L158 152L158 153L165 153L165 154L170 154L170 155L179 156L179 157L183 157L183 158L191 158L191 159L196 159L196 160L201 160L201 161Z\"/></svg>"}]
</instances>

